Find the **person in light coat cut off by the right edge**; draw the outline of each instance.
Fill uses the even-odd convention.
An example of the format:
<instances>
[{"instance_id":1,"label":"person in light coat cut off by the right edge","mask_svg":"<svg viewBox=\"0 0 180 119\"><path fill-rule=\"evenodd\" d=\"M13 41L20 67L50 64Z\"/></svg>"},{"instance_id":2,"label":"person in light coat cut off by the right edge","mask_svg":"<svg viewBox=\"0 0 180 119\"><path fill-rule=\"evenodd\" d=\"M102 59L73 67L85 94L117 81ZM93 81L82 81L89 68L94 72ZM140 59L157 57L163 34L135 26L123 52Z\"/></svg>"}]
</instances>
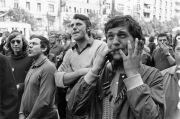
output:
<instances>
[{"instance_id":1,"label":"person in light coat cut off by the right edge","mask_svg":"<svg viewBox=\"0 0 180 119\"><path fill-rule=\"evenodd\" d=\"M176 65L161 72L164 75L165 119L179 119L180 117L180 34L174 38L173 49Z\"/></svg>"}]
</instances>

